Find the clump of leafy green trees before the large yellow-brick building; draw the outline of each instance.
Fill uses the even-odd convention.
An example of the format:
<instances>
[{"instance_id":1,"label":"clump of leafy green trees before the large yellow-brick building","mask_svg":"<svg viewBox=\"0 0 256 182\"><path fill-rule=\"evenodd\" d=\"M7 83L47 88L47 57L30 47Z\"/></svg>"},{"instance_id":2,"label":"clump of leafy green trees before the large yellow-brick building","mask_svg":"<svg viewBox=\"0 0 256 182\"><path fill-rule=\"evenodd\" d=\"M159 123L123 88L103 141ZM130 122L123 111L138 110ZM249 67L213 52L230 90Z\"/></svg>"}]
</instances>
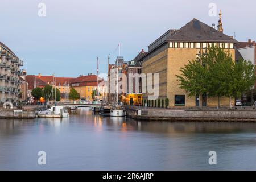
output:
<instances>
[{"instance_id":1,"label":"clump of leafy green trees before the large yellow-brick building","mask_svg":"<svg viewBox=\"0 0 256 182\"><path fill-rule=\"evenodd\" d=\"M218 107L222 96L229 97L231 107L231 98L241 97L255 82L254 65L250 61L234 63L231 53L218 47L210 47L180 71L181 75L176 75L179 86L189 97L199 95L200 101L202 94L218 97Z\"/></svg>"}]
</instances>

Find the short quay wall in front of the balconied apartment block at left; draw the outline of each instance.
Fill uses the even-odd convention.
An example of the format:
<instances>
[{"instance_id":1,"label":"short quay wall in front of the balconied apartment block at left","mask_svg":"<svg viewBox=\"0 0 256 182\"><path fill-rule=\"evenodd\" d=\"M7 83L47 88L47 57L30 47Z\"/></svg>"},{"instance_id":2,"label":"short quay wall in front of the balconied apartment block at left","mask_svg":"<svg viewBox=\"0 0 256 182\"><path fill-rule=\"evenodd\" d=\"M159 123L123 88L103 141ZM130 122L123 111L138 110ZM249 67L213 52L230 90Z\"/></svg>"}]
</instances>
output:
<instances>
[{"instance_id":1,"label":"short quay wall in front of the balconied apartment block at left","mask_svg":"<svg viewBox=\"0 0 256 182\"><path fill-rule=\"evenodd\" d=\"M32 119L36 109L0 109L0 119Z\"/></svg>"}]
</instances>

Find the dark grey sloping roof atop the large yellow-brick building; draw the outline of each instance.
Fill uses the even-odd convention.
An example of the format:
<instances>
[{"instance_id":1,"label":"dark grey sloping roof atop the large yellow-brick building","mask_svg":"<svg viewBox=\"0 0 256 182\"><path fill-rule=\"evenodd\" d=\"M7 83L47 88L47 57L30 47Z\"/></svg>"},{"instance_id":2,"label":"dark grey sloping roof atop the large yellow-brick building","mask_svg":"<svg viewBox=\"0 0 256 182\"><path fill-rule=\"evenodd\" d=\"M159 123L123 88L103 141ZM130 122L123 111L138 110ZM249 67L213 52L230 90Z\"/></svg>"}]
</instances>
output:
<instances>
[{"instance_id":1,"label":"dark grey sloping roof atop the large yellow-brick building","mask_svg":"<svg viewBox=\"0 0 256 182\"><path fill-rule=\"evenodd\" d=\"M200 22L197 19L192 19L184 27L173 31L167 41L195 41L195 42L229 42L236 43L237 41L230 38L228 35L219 32L218 30Z\"/></svg>"}]
</instances>

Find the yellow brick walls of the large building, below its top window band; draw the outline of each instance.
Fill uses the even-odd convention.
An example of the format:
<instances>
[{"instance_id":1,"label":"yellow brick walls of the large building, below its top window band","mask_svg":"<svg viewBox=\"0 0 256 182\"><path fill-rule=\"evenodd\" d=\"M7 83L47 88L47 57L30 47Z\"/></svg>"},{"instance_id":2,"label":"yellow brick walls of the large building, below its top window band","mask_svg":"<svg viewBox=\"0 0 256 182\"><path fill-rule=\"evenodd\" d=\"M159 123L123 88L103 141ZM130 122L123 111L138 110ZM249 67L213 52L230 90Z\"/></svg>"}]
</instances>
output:
<instances>
[{"instance_id":1,"label":"yellow brick walls of the large building, below its top window band","mask_svg":"<svg viewBox=\"0 0 256 182\"><path fill-rule=\"evenodd\" d=\"M234 49L229 49L233 60L235 59ZM228 49L225 49L228 51ZM175 106L175 95L185 95L185 107L195 107L196 97L188 97L185 90L179 88L179 81L176 75L180 75L180 68L188 64L188 60L196 59L196 48L167 48L150 59L143 61L143 73L159 73L159 98L168 98L169 107ZM147 94L143 94L147 98ZM234 100L232 100L234 103ZM200 102L201 103L201 102ZM221 98L221 106L229 106L229 98ZM207 106L215 107L218 105L218 98L207 97Z\"/></svg>"}]
</instances>

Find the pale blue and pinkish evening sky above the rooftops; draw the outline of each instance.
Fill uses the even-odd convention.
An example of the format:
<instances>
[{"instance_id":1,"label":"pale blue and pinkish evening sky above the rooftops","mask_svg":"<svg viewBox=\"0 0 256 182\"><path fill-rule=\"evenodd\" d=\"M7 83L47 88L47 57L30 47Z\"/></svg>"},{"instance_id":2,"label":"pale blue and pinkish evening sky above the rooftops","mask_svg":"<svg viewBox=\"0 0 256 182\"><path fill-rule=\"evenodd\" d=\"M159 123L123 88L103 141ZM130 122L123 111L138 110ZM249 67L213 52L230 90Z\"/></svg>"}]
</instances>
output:
<instances>
[{"instance_id":1,"label":"pale blue and pinkish evening sky above the rooftops","mask_svg":"<svg viewBox=\"0 0 256 182\"><path fill-rule=\"evenodd\" d=\"M46 5L46 16L42 6ZM196 18L218 24L222 10L224 34L238 41L256 40L256 2L252 0L1 0L0 41L24 60L28 75L77 77L106 73L119 55L135 56L171 28Z\"/></svg>"}]
</instances>

